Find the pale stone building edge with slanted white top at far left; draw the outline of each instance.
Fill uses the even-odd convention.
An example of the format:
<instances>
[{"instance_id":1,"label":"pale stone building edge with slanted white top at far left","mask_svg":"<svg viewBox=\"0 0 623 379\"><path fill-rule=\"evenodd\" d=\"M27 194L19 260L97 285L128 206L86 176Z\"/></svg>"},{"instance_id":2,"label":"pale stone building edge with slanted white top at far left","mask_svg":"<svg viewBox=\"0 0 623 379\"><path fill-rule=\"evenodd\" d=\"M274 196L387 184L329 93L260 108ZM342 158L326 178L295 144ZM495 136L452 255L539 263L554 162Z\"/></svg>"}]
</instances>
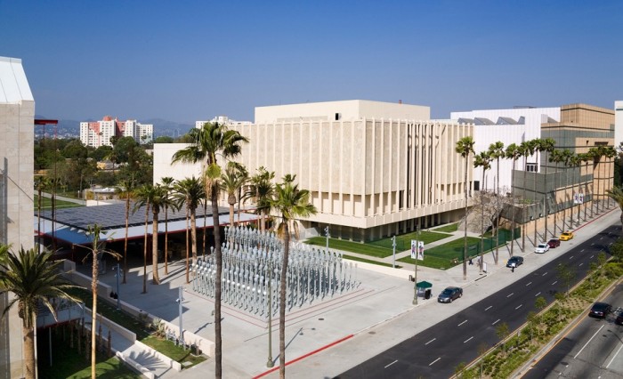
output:
<instances>
[{"instance_id":1,"label":"pale stone building edge with slanted white top at far left","mask_svg":"<svg viewBox=\"0 0 623 379\"><path fill-rule=\"evenodd\" d=\"M35 100L20 59L0 57L0 243L13 250L34 246L33 167ZM0 297L4 310L9 295ZM21 321L17 307L0 327L0 377L23 377Z\"/></svg>"}]
</instances>

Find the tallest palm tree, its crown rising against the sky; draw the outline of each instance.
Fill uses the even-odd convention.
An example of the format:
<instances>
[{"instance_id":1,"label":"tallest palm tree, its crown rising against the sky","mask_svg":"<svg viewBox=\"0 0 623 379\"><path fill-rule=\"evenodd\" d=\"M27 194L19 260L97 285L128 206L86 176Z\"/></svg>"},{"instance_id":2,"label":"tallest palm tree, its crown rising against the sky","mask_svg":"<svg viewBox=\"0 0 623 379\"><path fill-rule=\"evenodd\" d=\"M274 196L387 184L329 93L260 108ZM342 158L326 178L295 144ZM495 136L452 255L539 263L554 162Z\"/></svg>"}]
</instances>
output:
<instances>
[{"instance_id":1,"label":"tallest palm tree, its crown rising against the sky","mask_svg":"<svg viewBox=\"0 0 623 379\"><path fill-rule=\"evenodd\" d=\"M206 163L204 180L206 183L206 195L210 196L212 203L212 220L214 223L214 260L216 272L214 273L216 288L214 294L214 375L220 379L223 376L223 339L221 334L221 280L223 277L223 255L221 254L221 227L218 213L218 189L221 179L221 167L218 165L217 156L224 159L236 157L242 150L242 143L248 142L240 133L228 130L226 125L218 123L206 123L198 130L190 146L177 151L173 161L186 161Z\"/></svg>"}]
</instances>

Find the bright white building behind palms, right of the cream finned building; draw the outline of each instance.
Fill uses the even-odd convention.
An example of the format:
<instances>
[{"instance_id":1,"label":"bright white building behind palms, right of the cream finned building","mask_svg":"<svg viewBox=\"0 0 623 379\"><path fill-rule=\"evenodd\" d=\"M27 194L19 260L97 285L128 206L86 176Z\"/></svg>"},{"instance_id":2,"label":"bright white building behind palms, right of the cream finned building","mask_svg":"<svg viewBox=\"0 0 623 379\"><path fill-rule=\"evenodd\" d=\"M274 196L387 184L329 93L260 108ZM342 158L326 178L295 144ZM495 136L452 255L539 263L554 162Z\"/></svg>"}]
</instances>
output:
<instances>
[{"instance_id":1,"label":"bright white building behind palms, right of the cream finned building","mask_svg":"<svg viewBox=\"0 0 623 379\"><path fill-rule=\"evenodd\" d=\"M560 120L560 107L553 108L529 108L518 107L514 109L482 109L464 112L452 112L450 118L459 123L473 123L473 149L476 154L489 149L491 143L501 141L504 147L523 141L541 138L541 124L557 122ZM519 159L515 169L522 170L524 164L528 171L538 171L536 155L529 157L527 162ZM511 189L511 174L513 161L500 159L499 163L499 188ZM477 167L473 172L473 181L478 182L478 189L495 189L494 177L498 173L496 162L491 162L491 169L486 173L485 185L482 185L482 168Z\"/></svg>"}]
</instances>

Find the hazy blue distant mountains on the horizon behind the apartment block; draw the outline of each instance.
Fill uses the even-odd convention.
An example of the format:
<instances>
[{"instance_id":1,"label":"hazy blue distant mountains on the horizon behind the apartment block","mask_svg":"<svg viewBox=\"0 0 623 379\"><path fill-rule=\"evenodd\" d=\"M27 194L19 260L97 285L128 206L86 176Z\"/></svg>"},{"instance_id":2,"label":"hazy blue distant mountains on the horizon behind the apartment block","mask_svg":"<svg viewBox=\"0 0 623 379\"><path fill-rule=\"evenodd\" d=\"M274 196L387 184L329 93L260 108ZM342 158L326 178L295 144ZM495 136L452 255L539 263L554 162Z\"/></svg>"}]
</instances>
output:
<instances>
[{"instance_id":1,"label":"hazy blue distant mountains on the horizon behind the apartment block","mask_svg":"<svg viewBox=\"0 0 623 379\"><path fill-rule=\"evenodd\" d=\"M47 117L36 115L37 119L46 119ZM81 121L95 121L93 119L81 120ZM59 120L59 124L54 130L54 125L37 125L35 127L35 134L37 136L45 133L48 136L53 136L56 133L59 138L79 138L80 137L80 122L76 120ZM174 121L163 120L162 118L150 118L146 120L138 120L141 124L153 124L154 125L154 138L161 135L168 135L169 137L178 137L187 133L191 128L195 127L194 124L189 123L176 123Z\"/></svg>"}]
</instances>

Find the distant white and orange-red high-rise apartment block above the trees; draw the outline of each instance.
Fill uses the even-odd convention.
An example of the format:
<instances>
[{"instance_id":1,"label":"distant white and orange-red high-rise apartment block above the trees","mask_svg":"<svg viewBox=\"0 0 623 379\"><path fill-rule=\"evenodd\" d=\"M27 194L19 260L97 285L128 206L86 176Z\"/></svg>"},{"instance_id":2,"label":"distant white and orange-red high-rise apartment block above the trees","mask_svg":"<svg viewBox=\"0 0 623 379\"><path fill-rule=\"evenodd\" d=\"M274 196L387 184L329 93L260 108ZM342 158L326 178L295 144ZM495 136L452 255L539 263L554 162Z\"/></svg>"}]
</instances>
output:
<instances>
[{"instance_id":1,"label":"distant white and orange-red high-rise apartment block above the trees","mask_svg":"<svg viewBox=\"0 0 623 379\"><path fill-rule=\"evenodd\" d=\"M141 124L136 120L119 121L106 116L100 121L80 123L80 141L93 148L112 146L111 137L132 137L143 144L150 143L153 136L154 125Z\"/></svg>"}]
</instances>

